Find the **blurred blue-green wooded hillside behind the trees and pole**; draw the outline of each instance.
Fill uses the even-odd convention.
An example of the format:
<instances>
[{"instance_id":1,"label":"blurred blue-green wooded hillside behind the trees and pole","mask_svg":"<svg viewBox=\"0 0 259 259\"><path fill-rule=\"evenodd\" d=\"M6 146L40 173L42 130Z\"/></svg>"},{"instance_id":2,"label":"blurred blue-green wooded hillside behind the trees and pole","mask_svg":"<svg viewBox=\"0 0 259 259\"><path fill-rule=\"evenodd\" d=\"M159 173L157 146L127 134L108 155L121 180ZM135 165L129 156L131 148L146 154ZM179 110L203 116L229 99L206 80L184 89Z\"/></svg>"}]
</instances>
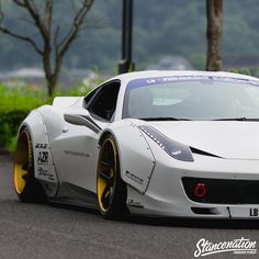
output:
<instances>
[{"instance_id":1,"label":"blurred blue-green wooded hillside behind the trees and pole","mask_svg":"<svg viewBox=\"0 0 259 259\"><path fill-rule=\"evenodd\" d=\"M37 41L37 34L29 22L21 22L24 10L13 8L7 2L4 22L16 32L26 32ZM8 4L8 2L10 2ZM35 0L37 4L42 0ZM76 2L76 1L75 1ZM117 0L94 1L90 15L87 18L86 30L75 42L65 58L67 68L92 68L116 70L121 57L121 20L122 2ZM156 63L164 55L187 57L196 69L204 69L206 55L206 1L156 0L134 2L134 61L139 69ZM10 7L9 7L10 5ZM71 12L70 1L57 1L54 21L61 21L60 36L69 25ZM224 31L222 56L224 61L237 57L259 57L259 15L258 0L224 1ZM44 9L43 9L44 10ZM21 18L19 21L16 19ZM105 21L103 23L103 21ZM100 24L103 24L103 26ZM195 58L196 57L196 58ZM38 65L38 56L25 43L1 35L0 68L18 68Z\"/></svg>"}]
</instances>

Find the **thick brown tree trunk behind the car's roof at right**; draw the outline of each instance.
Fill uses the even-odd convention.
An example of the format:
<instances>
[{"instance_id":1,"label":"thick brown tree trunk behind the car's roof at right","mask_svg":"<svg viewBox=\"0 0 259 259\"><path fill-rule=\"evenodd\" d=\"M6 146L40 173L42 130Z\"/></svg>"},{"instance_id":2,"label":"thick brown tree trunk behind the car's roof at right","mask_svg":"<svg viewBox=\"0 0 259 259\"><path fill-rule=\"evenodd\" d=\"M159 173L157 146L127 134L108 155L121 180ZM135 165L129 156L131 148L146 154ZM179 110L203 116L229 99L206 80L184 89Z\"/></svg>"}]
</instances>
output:
<instances>
[{"instance_id":1,"label":"thick brown tree trunk behind the car's roof at right","mask_svg":"<svg viewBox=\"0 0 259 259\"><path fill-rule=\"evenodd\" d=\"M207 55L206 70L222 70L221 38L223 27L223 0L206 0Z\"/></svg>"}]
</instances>

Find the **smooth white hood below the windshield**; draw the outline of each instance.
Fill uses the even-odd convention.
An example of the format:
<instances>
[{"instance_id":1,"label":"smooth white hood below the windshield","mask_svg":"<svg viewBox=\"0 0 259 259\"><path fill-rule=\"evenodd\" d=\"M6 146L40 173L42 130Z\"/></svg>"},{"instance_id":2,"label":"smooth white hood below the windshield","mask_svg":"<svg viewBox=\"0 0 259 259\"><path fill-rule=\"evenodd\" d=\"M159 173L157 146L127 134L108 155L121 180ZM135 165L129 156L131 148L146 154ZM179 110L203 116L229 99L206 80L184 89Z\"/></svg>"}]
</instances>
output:
<instances>
[{"instance_id":1,"label":"smooth white hood below the windshield","mask_svg":"<svg viewBox=\"0 0 259 259\"><path fill-rule=\"evenodd\" d=\"M259 159L259 122L148 122L167 137L228 159Z\"/></svg>"}]
</instances>

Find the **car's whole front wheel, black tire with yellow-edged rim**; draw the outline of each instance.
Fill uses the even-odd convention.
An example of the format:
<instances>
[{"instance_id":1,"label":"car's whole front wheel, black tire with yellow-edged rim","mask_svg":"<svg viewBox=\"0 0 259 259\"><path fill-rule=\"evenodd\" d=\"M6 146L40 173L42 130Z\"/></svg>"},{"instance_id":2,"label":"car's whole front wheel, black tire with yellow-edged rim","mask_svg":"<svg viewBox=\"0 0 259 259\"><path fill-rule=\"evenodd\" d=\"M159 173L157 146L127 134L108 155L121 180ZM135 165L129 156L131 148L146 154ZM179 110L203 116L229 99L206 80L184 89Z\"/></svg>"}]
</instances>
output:
<instances>
[{"instance_id":1,"label":"car's whole front wheel, black tire with yellow-edged rim","mask_svg":"<svg viewBox=\"0 0 259 259\"><path fill-rule=\"evenodd\" d=\"M122 219L128 212L127 189L121 178L117 147L110 134L101 143L97 171L97 195L99 210L104 218Z\"/></svg>"}]
</instances>

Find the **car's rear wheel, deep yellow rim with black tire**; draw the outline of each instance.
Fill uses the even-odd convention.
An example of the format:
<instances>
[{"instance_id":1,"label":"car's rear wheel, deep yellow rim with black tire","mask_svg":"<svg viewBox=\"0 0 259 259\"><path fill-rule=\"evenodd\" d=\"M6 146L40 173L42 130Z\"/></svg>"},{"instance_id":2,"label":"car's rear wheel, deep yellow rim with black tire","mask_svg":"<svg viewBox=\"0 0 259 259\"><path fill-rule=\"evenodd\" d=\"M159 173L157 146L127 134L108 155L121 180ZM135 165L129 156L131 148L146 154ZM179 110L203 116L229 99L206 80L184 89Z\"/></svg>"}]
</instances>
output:
<instances>
[{"instance_id":1,"label":"car's rear wheel, deep yellow rim with black tire","mask_svg":"<svg viewBox=\"0 0 259 259\"><path fill-rule=\"evenodd\" d=\"M30 132L24 127L18 137L14 155L13 183L21 202L43 203L46 201L41 183L34 177L34 158Z\"/></svg>"}]
</instances>

